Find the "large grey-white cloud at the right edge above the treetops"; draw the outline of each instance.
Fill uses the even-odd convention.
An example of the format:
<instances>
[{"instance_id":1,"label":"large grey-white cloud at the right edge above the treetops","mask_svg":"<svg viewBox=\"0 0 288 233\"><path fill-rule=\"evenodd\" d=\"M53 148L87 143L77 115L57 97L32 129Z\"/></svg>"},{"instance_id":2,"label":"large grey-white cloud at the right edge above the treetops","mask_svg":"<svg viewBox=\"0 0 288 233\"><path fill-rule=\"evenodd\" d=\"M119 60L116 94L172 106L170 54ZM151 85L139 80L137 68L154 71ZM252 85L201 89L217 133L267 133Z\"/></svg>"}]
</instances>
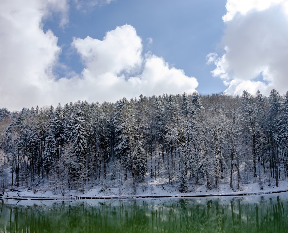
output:
<instances>
[{"instance_id":1,"label":"large grey-white cloud at the right edge above the treetops","mask_svg":"<svg viewBox=\"0 0 288 233\"><path fill-rule=\"evenodd\" d=\"M287 1L227 1L223 16L226 29L221 41L224 54L207 55L214 63L214 77L228 86L226 93L243 89L268 95L271 89L285 93L288 80Z\"/></svg>"}]
</instances>

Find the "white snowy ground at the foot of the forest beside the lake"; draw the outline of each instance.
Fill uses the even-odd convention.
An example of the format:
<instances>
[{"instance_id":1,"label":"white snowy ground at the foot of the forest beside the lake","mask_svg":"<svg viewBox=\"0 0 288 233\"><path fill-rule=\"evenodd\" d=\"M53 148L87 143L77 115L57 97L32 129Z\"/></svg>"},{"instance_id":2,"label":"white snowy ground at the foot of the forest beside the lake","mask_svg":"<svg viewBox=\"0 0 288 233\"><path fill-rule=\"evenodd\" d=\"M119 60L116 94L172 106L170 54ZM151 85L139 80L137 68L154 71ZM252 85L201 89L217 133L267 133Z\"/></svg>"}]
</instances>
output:
<instances>
[{"instance_id":1,"label":"white snowy ground at the foot of the forest beside the lake","mask_svg":"<svg viewBox=\"0 0 288 233\"><path fill-rule=\"evenodd\" d=\"M206 185L197 185L190 187L185 193L179 193L177 187L172 187L169 184L161 185L158 182L148 183L145 187L137 187L136 194L133 195L132 187L129 185L123 186L119 190L119 187L108 187L105 191L101 191L101 185L93 188L86 188L84 192L81 191L65 191L65 195L55 194L55 192L49 189L39 189L37 191L27 189L6 189L2 198L5 199L58 199L58 200L74 200L74 199L96 199L96 198L152 198L152 197L190 197L190 196L232 196L232 195L263 195L269 193L277 193L288 191L288 180L279 181L279 186L275 186L275 182L272 182L269 186L268 182L262 184L260 187L258 182L255 183L243 183L240 185L240 189L230 188L230 184L222 183L218 188L207 189ZM17 190L17 191L16 191Z\"/></svg>"}]
</instances>

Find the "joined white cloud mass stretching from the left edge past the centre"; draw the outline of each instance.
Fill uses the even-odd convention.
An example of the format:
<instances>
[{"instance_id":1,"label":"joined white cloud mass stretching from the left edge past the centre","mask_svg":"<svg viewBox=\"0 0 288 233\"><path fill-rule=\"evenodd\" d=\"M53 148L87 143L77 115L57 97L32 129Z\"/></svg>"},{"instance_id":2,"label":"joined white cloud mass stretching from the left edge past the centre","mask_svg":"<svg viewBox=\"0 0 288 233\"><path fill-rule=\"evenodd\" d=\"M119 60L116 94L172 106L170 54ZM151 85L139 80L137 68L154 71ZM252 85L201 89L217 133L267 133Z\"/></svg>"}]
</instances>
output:
<instances>
[{"instance_id":1,"label":"joined white cloud mass stretching from the left edge past the centre","mask_svg":"<svg viewBox=\"0 0 288 233\"><path fill-rule=\"evenodd\" d=\"M60 16L60 27L69 23L67 2L1 2L0 106L20 110L79 99L101 103L140 94L195 91L194 77L151 52L143 53L141 38L130 25L107 32L102 40L73 38L71 47L80 55L84 69L81 74L54 77L61 48L58 38L51 30L44 32L42 25L54 14Z\"/></svg>"}]
</instances>

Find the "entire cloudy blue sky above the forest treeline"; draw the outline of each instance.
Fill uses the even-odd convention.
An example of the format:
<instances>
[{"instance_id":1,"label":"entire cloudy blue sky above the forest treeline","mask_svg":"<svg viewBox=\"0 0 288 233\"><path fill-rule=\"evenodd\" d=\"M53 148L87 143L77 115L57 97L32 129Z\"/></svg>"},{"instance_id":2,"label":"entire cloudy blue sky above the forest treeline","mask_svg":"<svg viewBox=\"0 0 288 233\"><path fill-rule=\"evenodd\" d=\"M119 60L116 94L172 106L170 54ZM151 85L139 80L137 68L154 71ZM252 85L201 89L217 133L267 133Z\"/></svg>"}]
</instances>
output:
<instances>
[{"instance_id":1,"label":"entire cloudy blue sky above the forest treeline","mask_svg":"<svg viewBox=\"0 0 288 233\"><path fill-rule=\"evenodd\" d=\"M288 0L2 0L0 108L288 89Z\"/></svg>"}]
</instances>

